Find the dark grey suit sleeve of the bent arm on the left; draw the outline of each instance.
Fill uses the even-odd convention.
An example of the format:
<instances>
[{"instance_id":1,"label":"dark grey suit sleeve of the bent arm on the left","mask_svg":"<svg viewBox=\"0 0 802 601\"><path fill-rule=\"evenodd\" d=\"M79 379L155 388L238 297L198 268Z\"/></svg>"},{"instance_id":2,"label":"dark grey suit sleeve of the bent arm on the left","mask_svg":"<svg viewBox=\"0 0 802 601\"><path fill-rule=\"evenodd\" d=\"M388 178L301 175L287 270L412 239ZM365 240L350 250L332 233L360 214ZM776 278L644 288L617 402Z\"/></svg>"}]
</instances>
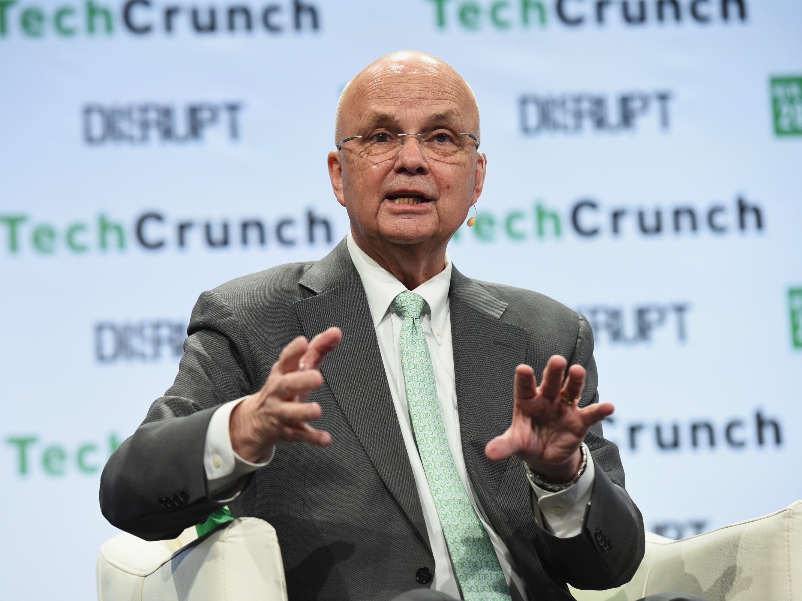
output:
<instances>
[{"instance_id":1,"label":"dark grey suit sleeve of the bent arm on the left","mask_svg":"<svg viewBox=\"0 0 802 601\"><path fill-rule=\"evenodd\" d=\"M100 477L103 516L146 540L176 538L224 504L209 499L206 430L218 405L255 388L245 331L220 294L201 294L187 334L172 387L151 405Z\"/></svg>"}]
</instances>

